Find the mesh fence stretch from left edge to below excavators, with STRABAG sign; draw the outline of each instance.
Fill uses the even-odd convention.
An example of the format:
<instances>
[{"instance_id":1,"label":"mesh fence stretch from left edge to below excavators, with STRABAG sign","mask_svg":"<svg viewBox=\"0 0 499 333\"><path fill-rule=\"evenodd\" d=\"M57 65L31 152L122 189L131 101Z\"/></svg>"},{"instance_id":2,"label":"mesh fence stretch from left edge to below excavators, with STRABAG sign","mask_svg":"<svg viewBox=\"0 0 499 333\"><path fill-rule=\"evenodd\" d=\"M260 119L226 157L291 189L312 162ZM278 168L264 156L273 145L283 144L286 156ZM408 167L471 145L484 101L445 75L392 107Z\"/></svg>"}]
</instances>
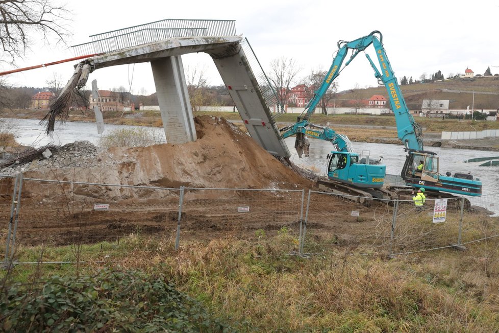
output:
<instances>
[{"instance_id":1,"label":"mesh fence stretch from left edge to below excavators, with STRABAG sign","mask_svg":"<svg viewBox=\"0 0 499 333\"><path fill-rule=\"evenodd\" d=\"M282 189L165 188L62 180L1 178L0 229L4 262L100 261L130 234L171 240L246 237L286 232L297 251L304 191ZM22 245L22 246L19 246ZM26 250L43 245L43 253ZM98 251L92 246L98 246ZM89 249L86 251L85 249Z\"/></svg>"}]
</instances>

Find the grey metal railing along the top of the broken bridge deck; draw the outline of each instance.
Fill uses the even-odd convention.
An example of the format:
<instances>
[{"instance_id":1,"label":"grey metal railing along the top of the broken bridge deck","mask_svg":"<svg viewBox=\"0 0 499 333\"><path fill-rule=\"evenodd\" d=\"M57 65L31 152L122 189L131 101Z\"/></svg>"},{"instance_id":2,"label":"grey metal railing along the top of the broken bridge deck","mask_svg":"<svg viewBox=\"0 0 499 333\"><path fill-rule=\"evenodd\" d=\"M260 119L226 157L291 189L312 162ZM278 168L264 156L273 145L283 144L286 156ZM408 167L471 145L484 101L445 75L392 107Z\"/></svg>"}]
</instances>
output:
<instances>
[{"instance_id":1,"label":"grey metal railing along the top of the broken bridge deck","mask_svg":"<svg viewBox=\"0 0 499 333\"><path fill-rule=\"evenodd\" d=\"M163 19L91 35L91 42L73 45L78 56L107 53L177 37L237 36L234 20Z\"/></svg>"}]
</instances>

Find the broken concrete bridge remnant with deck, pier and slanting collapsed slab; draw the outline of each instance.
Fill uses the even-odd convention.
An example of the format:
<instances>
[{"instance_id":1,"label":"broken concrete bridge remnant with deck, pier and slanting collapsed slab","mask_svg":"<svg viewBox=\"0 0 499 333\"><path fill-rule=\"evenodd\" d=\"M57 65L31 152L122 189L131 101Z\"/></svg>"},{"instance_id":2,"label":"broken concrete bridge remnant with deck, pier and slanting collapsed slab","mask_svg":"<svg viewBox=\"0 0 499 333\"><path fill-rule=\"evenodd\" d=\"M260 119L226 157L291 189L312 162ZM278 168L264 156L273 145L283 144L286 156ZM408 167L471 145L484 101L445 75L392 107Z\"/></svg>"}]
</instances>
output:
<instances>
[{"instance_id":1,"label":"broken concrete bridge remnant with deck, pier and slanting collapsed slab","mask_svg":"<svg viewBox=\"0 0 499 333\"><path fill-rule=\"evenodd\" d=\"M143 35L144 30L149 29L143 26L138 27L141 29L132 29L132 32L127 33L111 32L111 36L105 38L107 44L104 46L109 45L110 40L121 40L127 34L136 35L140 31ZM192 31L197 34L204 30L191 28L189 32L192 33ZM157 33L157 31L154 32ZM130 40L130 36L127 38ZM88 46L93 45L92 51L101 51L99 47L103 45L102 39L96 39L87 44L76 45L76 47L84 50L82 45L85 45L88 50ZM139 43L135 46L127 45L123 49L116 47L117 50L107 51L102 55L86 59L82 63L90 64L93 72L93 70L109 66L151 62L166 140L171 144L182 144L196 140L196 132L181 56L195 52L208 53L228 88L248 133L270 154L289 157L290 153L273 120L250 61L241 46L242 42L244 38L237 35L160 38L160 40Z\"/></svg>"}]
</instances>

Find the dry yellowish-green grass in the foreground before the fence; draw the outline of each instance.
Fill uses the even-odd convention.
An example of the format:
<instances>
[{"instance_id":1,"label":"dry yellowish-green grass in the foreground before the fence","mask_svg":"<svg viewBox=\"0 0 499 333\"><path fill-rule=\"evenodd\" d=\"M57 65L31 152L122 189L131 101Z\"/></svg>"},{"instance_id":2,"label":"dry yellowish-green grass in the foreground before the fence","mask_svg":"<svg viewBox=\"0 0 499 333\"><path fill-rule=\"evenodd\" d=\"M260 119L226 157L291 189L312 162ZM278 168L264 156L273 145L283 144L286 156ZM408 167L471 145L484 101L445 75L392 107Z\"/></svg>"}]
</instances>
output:
<instances>
[{"instance_id":1,"label":"dry yellowish-green grass in the foreground before the fence","mask_svg":"<svg viewBox=\"0 0 499 333\"><path fill-rule=\"evenodd\" d=\"M286 230L269 237L257 232L234 238L183 242L132 234L119 244L85 246L89 264L79 274L102 266L161 273L177 288L201 301L238 331L496 331L497 258L487 276L475 254L434 251L387 260L363 255L354 243L334 245L330 237L311 235L309 258L288 255L295 239ZM497 241L495 241L496 243ZM27 248L32 257L41 248ZM57 261L66 249L45 250ZM111 255L107 264L97 259ZM56 268L57 267L57 268ZM43 266L43 274L76 274L73 265ZM23 280L36 270L19 266ZM493 286L488 288L487 286ZM495 289L494 289L495 288ZM486 289L486 291L484 291Z\"/></svg>"}]
</instances>

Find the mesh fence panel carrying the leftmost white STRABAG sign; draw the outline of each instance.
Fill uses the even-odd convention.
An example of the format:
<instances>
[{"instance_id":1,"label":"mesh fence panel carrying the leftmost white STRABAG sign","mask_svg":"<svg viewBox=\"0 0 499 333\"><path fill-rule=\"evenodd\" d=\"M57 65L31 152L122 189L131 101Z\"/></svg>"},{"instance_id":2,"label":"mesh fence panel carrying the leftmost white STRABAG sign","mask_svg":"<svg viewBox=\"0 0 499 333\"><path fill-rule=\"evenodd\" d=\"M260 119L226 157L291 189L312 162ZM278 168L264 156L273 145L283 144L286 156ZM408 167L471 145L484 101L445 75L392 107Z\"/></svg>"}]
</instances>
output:
<instances>
[{"instance_id":1,"label":"mesh fence panel carrying the leftmost white STRABAG sign","mask_svg":"<svg viewBox=\"0 0 499 333\"><path fill-rule=\"evenodd\" d=\"M112 247L101 245L98 257L89 257L85 246L119 242L130 234L174 239L179 193L176 188L24 178L16 244L23 248L43 245L46 249L68 246L61 261L85 261L102 259L112 252ZM0 214L2 221L8 220L5 209ZM17 251L14 261L46 260L38 255Z\"/></svg>"}]
</instances>

